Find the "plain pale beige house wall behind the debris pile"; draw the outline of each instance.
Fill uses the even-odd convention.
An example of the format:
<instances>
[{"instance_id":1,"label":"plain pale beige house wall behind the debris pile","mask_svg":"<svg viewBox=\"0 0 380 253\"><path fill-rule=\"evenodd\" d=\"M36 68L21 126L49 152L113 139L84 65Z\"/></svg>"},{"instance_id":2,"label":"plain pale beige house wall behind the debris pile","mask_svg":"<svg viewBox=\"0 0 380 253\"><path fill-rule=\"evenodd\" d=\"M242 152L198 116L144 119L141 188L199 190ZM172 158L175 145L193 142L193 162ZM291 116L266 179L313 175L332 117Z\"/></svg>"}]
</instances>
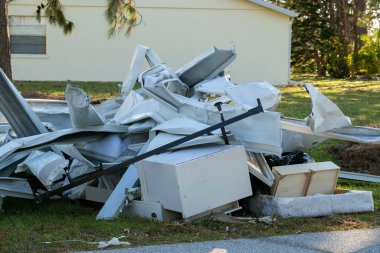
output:
<instances>
[{"instance_id":1,"label":"plain pale beige house wall behind the debris pile","mask_svg":"<svg viewBox=\"0 0 380 253\"><path fill-rule=\"evenodd\" d=\"M33 16L40 1L17 0L9 13ZM205 49L236 45L232 81L287 84L290 17L247 0L137 0L143 23L130 37L106 36L105 0L62 0L75 24L64 36L47 26L46 55L12 55L15 80L120 81L136 44L153 48L179 68Z\"/></svg>"}]
</instances>

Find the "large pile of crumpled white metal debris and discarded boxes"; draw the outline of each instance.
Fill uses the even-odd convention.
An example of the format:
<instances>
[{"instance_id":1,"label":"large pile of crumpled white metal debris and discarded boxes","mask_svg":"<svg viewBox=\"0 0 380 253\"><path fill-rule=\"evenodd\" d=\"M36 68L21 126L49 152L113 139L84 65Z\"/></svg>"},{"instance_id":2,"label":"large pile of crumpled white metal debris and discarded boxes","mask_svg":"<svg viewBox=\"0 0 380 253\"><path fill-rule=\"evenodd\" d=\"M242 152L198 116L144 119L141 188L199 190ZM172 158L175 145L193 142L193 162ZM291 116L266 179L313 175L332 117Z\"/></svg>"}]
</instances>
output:
<instances>
[{"instance_id":1,"label":"large pile of crumpled white metal debris and discarded boxes","mask_svg":"<svg viewBox=\"0 0 380 253\"><path fill-rule=\"evenodd\" d=\"M380 129L352 126L309 84L310 116L282 117L271 84L224 75L235 58L211 48L174 71L139 45L120 95L98 105L71 85L66 101L26 101L0 70L0 207L7 196L62 197L103 202L97 219L194 219L254 195L251 211L283 217L328 214L315 207L326 198L328 212L373 210L371 193L334 194L339 168L303 152L329 138L380 144Z\"/></svg>"}]
</instances>

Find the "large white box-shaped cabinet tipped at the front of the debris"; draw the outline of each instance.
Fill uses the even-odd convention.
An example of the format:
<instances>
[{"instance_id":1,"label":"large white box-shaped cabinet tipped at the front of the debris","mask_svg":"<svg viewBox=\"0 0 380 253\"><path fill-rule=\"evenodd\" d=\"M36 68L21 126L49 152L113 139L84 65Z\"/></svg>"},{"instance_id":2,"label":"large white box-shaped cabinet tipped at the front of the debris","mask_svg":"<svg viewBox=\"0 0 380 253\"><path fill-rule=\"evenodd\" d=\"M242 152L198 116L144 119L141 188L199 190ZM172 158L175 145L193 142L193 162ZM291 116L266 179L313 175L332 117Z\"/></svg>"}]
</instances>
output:
<instances>
[{"instance_id":1,"label":"large white box-shaped cabinet tipped at the front of the debris","mask_svg":"<svg viewBox=\"0 0 380 253\"><path fill-rule=\"evenodd\" d=\"M188 218L252 195L243 146L176 150L137 163L142 198Z\"/></svg>"}]
</instances>

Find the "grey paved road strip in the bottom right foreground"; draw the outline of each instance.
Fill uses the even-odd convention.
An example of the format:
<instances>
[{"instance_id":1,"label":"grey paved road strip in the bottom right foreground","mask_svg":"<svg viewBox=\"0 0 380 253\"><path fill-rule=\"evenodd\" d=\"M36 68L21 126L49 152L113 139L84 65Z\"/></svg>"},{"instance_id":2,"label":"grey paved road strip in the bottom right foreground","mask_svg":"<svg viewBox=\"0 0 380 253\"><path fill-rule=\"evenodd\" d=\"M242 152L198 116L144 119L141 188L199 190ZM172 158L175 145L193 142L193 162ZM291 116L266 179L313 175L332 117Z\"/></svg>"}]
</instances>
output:
<instances>
[{"instance_id":1,"label":"grey paved road strip in the bottom right foreground","mask_svg":"<svg viewBox=\"0 0 380 253\"><path fill-rule=\"evenodd\" d=\"M380 228L297 235L261 237L199 243L145 246L93 253L296 253L296 252L373 252L380 253Z\"/></svg>"}]
</instances>

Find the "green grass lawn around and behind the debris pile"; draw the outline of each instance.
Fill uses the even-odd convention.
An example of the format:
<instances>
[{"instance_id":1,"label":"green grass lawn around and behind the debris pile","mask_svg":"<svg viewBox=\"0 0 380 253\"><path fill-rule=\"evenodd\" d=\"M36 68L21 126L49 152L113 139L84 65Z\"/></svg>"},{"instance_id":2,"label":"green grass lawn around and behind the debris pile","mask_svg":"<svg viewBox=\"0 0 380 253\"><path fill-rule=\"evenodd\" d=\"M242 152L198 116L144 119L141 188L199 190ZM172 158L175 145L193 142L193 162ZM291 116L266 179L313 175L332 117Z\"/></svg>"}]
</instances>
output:
<instances>
[{"instance_id":1,"label":"green grass lawn around and behind the debris pile","mask_svg":"<svg viewBox=\"0 0 380 253\"><path fill-rule=\"evenodd\" d=\"M301 75L293 79L317 86L351 117L354 125L380 127L379 81L330 80ZM75 84L83 87L95 100L116 96L119 89L116 83ZM44 98L63 98L66 83L16 82L16 85L28 97L37 94L38 97ZM284 87L280 90L283 95L279 111L285 116L304 118L310 113L310 100L303 87ZM327 152L327 148L337 144L338 141L327 141L309 153L317 161L335 161ZM98 207L61 200L36 204L32 200L8 198L4 202L4 213L0 215L0 252L90 250L96 247L66 240L106 241L120 235L126 236L123 240L138 246L380 226L379 184L339 180L338 187L373 191L375 212L322 218L279 219L270 226L261 223L237 225L215 221L167 224L124 217L106 222L95 220Z\"/></svg>"}]
</instances>

